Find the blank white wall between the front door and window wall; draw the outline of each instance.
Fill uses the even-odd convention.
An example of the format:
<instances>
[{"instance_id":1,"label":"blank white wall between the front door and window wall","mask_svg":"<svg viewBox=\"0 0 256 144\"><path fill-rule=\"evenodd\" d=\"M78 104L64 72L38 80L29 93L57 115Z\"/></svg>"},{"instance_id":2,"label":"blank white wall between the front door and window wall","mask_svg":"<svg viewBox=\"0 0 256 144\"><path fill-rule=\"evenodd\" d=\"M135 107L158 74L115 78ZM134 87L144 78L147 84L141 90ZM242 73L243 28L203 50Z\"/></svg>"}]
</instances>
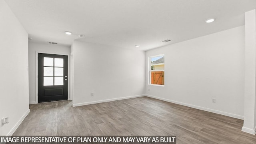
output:
<instances>
[{"instance_id":1,"label":"blank white wall between the front door and window wall","mask_svg":"<svg viewBox=\"0 0 256 144\"><path fill-rule=\"evenodd\" d=\"M73 106L145 93L145 52L74 41ZM94 96L90 96L91 92Z\"/></svg>"}]
</instances>

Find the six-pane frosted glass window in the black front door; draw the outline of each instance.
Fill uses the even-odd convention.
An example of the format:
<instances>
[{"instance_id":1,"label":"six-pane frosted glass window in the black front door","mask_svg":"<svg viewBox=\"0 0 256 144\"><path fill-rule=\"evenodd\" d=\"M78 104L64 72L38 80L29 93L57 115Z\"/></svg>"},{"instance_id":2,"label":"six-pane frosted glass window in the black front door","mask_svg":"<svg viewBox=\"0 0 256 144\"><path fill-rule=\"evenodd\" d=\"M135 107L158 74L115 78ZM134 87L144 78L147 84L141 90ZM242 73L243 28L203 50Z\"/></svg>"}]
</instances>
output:
<instances>
[{"instance_id":1,"label":"six-pane frosted glass window in the black front door","mask_svg":"<svg viewBox=\"0 0 256 144\"><path fill-rule=\"evenodd\" d=\"M44 57L44 86L63 85L63 58Z\"/></svg>"}]
</instances>

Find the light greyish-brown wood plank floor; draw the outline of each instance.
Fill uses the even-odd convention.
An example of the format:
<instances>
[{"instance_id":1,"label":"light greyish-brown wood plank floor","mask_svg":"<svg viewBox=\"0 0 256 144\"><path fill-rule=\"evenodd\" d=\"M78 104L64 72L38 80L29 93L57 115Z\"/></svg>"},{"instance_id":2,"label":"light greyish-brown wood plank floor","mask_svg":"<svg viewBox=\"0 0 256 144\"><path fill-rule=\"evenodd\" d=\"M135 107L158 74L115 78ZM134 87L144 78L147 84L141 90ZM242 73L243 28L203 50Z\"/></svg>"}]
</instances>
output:
<instances>
[{"instance_id":1,"label":"light greyish-brown wood plank floor","mask_svg":"<svg viewBox=\"0 0 256 144\"><path fill-rule=\"evenodd\" d=\"M243 120L148 97L72 107L30 105L14 136L177 136L177 144L255 144Z\"/></svg>"}]
</instances>

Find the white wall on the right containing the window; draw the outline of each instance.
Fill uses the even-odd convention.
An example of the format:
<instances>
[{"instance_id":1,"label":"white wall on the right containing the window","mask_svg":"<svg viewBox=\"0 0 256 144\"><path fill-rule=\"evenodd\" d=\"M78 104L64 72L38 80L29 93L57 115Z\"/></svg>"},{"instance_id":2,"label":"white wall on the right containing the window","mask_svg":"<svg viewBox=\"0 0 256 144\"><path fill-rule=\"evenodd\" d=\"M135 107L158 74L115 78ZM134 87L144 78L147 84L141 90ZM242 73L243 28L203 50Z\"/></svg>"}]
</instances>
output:
<instances>
[{"instance_id":1,"label":"white wall on the right containing the window","mask_svg":"<svg viewBox=\"0 0 256 144\"><path fill-rule=\"evenodd\" d=\"M164 54L165 86L148 85L147 71L146 94L242 119L244 29L240 26L147 51L146 60ZM216 98L216 103L211 98Z\"/></svg>"}]
</instances>

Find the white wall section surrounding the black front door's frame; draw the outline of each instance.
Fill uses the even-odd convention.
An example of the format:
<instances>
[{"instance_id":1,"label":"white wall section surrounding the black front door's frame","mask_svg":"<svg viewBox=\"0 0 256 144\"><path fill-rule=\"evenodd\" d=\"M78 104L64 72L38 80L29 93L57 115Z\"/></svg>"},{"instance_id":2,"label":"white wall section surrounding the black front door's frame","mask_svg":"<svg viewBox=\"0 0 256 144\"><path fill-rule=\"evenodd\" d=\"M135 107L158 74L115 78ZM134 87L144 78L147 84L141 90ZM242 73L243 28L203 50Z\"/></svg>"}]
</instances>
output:
<instances>
[{"instance_id":1,"label":"white wall section surrounding the black front door's frame","mask_svg":"<svg viewBox=\"0 0 256 144\"><path fill-rule=\"evenodd\" d=\"M29 102L36 103L36 51L53 54L70 54L70 47L29 42L28 43L28 66L29 66ZM69 60L68 60L69 61Z\"/></svg>"}]
</instances>

